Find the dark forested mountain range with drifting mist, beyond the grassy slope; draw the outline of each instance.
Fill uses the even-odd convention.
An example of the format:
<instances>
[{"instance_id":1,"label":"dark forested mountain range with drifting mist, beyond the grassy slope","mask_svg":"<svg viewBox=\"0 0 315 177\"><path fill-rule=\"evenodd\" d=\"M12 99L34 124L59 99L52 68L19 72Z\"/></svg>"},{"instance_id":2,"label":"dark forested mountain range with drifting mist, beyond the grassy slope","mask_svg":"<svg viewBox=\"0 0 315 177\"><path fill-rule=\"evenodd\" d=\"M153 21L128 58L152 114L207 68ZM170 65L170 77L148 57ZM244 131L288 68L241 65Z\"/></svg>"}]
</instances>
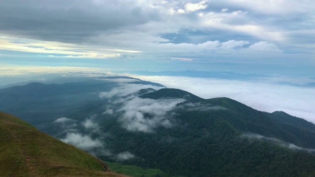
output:
<instances>
[{"instance_id":1,"label":"dark forested mountain range with drifting mist, beyond the grassy slope","mask_svg":"<svg viewBox=\"0 0 315 177\"><path fill-rule=\"evenodd\" d=\"M167 176L315 176L315 124L302 118L128 77L74 81L0 89L0 110Z\"/></svg>"}]
</instances>

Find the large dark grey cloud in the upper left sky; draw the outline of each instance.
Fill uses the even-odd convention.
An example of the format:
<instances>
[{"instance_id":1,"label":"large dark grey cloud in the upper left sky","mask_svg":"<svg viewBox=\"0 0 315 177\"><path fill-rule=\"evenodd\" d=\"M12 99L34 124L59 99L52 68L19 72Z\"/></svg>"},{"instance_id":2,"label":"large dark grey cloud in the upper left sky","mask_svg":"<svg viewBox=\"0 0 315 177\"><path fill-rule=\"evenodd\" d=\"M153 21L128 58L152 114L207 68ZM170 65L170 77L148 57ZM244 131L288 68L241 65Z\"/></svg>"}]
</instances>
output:
<instances>
[{"instance_id":1,"label":"large dark grey cloud in the upper left sky","mask_svg":"<svg viewBox=\"0 0 315 177\"><path fill-rule=\"evenodd\" d=\"M102 32L157 21L160 14L131 0L3 0L0 32L48 41L88 42Z\"/></svg>"}]
</instances>

